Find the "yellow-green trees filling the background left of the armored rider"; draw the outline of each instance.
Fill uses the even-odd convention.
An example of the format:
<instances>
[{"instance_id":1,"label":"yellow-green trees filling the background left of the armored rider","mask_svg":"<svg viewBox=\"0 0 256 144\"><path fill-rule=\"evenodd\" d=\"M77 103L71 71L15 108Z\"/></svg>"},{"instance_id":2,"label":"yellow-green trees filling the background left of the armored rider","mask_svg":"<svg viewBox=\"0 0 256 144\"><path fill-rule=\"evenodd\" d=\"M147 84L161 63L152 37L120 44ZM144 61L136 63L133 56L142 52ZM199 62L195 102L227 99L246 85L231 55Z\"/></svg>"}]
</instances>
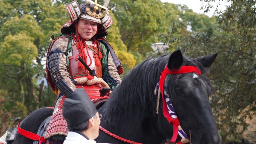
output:
<instances>
[{"instance_id":1,"label":"yellow-green trees filling the background left of the armored rider","mask_svg":"<svg viewBox=\"0 0 256 144\"><path fill-rule=\"evenodd\" d=\"M0 1L0 130L16 125L38 107L54 105L53 92L43 90L38 79L45 77L48 37L67 21L64 7L51 0ZM39 102L42 97L48 100Z\"/></svg>"}]
</instances>

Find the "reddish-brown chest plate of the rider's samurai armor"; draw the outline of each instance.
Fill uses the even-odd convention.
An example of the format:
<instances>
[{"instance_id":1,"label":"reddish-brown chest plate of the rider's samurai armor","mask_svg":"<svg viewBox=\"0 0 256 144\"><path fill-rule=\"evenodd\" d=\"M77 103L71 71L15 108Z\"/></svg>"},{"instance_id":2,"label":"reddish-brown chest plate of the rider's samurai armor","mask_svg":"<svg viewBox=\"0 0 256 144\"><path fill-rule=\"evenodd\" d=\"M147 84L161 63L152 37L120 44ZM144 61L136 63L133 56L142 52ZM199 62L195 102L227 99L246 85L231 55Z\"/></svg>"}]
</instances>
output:
<instances>
[{"instance_id":1,"label":"reddish-brown chest plate of the rider's samurai armor","mask_svg":"<svg viewBox=\"0 0 256 144\"><path fill-rule=\"evenodd\" d=\"M91 48L91 49L90 49ZM99 78L102 78L102 65L100 64L100 66L96 66L95 65L95 58L93 58L94 55L94 51L96 53L98 53L97 49L93 49L93 46L88 47L88 51L86 49L84 49L85 55L86 55L86 61L87 61L87 65L90 67L90 69L94 69L96 71L96 75ZM78 63L79 60L77 60L77 56L79 55L79 49L76 48L76 46L72 46L72 50L73 50L73 56L68 57L69 59L69 66L68 66L68 70L70 73L71 77L76 77L76 76L81 76L81 77L86 77L87 76L87 69L80 69L78 68ZM81 53L81 52L80 52ZM91 63L91 64L90 64Z\"/></svg>"}]
</instances>

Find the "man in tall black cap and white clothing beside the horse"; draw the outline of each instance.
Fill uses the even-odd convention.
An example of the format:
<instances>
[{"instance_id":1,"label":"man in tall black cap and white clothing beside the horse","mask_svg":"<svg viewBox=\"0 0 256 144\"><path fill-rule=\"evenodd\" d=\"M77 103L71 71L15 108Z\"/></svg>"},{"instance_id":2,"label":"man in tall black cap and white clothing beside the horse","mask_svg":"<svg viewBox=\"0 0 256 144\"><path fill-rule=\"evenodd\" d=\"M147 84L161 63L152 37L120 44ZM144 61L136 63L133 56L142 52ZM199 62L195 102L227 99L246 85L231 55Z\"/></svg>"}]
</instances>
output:
<instances>
[{"instance_id":1,"label":"man in tall black cap and white clothing beside the horse","mask_svg":"<svg viewBox=\"0 0 256 144\"><path fill-rule=\"evenodd\" d=\"M99 136L101 114L84 89L76 89L63 102L63 117L68 127L63 144L96 144L93 139Z\"/></svg>"}]
</instances>

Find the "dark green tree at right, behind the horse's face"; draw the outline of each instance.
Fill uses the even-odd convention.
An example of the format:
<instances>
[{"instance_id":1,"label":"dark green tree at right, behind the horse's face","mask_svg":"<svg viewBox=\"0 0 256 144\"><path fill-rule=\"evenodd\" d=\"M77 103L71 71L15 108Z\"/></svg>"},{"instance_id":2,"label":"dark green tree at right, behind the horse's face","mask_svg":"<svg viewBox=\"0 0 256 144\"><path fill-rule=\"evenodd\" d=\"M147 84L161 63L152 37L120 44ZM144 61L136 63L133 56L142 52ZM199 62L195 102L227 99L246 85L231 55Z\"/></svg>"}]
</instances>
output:
<instances>
[{"instance_id":1,"label":"dark green tree at right, behind the horse's face","mask_svg":"<svg viewBox=\"0 0 256 144\"><path fill-rule=\"evenodd\" d=\"M205 0L205 7L212 7L209 5L212 1ZM255 115L256 110L256 2L228 1L231 5L226 11L220 12L217 7L219 15L212 18L217 18L218 24L213 25L210 37L207 30L192 29L175 43L192 57L219 54L209 77L215 87L211 103L223 143L241 142L241 134L247 129L245 119Z\"/></svg>"}]
</instances>

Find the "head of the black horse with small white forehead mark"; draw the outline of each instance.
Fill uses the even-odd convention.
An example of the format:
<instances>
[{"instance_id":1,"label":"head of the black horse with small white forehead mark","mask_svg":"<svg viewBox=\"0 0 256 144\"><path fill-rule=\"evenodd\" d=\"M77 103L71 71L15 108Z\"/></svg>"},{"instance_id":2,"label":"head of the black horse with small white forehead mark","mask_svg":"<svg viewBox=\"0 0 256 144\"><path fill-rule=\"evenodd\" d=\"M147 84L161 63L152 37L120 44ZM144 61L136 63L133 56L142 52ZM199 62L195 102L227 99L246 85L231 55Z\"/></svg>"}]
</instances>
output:
<instances>
[{"instance_id":1,"label":"head of the black horse with small white forehead mark","mask_svg":"<svg viewBox=\"0 0 256 144\"><path fill-rule=\"evenodd\" d=\"M169 74L166 75L164 81L167 86L166 92L180 121L180 126L187 136L191 132L192 144L221 143L209 103L209 95L212 92L211 82L201 75L207 72L216 57L217 54L191 59L183 57L180 50L178 50L170 55L167 63L169 71L177 71L181 67L189 66L195 66L195 69L199 70L199 72ZM160 105L159 109L159 111L162 111L159 112L160 117L164 113L162 106ZM158 123L161 123L160 117ZM165 127L166 121L161 125L163 131L170 129L169 126Z\"/></svg>"}]
</instances>

